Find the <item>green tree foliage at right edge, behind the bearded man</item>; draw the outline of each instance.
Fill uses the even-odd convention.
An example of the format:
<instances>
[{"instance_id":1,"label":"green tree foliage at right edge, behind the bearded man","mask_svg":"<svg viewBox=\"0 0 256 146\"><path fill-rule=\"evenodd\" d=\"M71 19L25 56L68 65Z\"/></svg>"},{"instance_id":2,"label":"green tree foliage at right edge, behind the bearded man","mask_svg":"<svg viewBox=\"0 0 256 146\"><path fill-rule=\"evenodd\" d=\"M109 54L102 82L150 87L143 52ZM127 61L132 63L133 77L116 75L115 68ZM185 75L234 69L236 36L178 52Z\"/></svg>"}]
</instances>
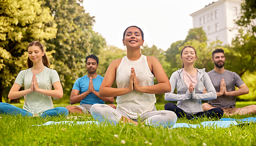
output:
<instances>
[{"instance_id":1,"label":"green tree foliage at right edge, behind the bearded man","mask_svg":"<svg viewBox=\"0 0 256 146\"><path fill-rule=\"evenodd\" d=\"M241 4L241 16L235 22L240 30L232 41L227 56L230 63L229 68L238 75L244 72L255 72L256 68L256 1L245 0ZM226 55L226 54L225 54Z\"/></svg>"}]
</instances>

